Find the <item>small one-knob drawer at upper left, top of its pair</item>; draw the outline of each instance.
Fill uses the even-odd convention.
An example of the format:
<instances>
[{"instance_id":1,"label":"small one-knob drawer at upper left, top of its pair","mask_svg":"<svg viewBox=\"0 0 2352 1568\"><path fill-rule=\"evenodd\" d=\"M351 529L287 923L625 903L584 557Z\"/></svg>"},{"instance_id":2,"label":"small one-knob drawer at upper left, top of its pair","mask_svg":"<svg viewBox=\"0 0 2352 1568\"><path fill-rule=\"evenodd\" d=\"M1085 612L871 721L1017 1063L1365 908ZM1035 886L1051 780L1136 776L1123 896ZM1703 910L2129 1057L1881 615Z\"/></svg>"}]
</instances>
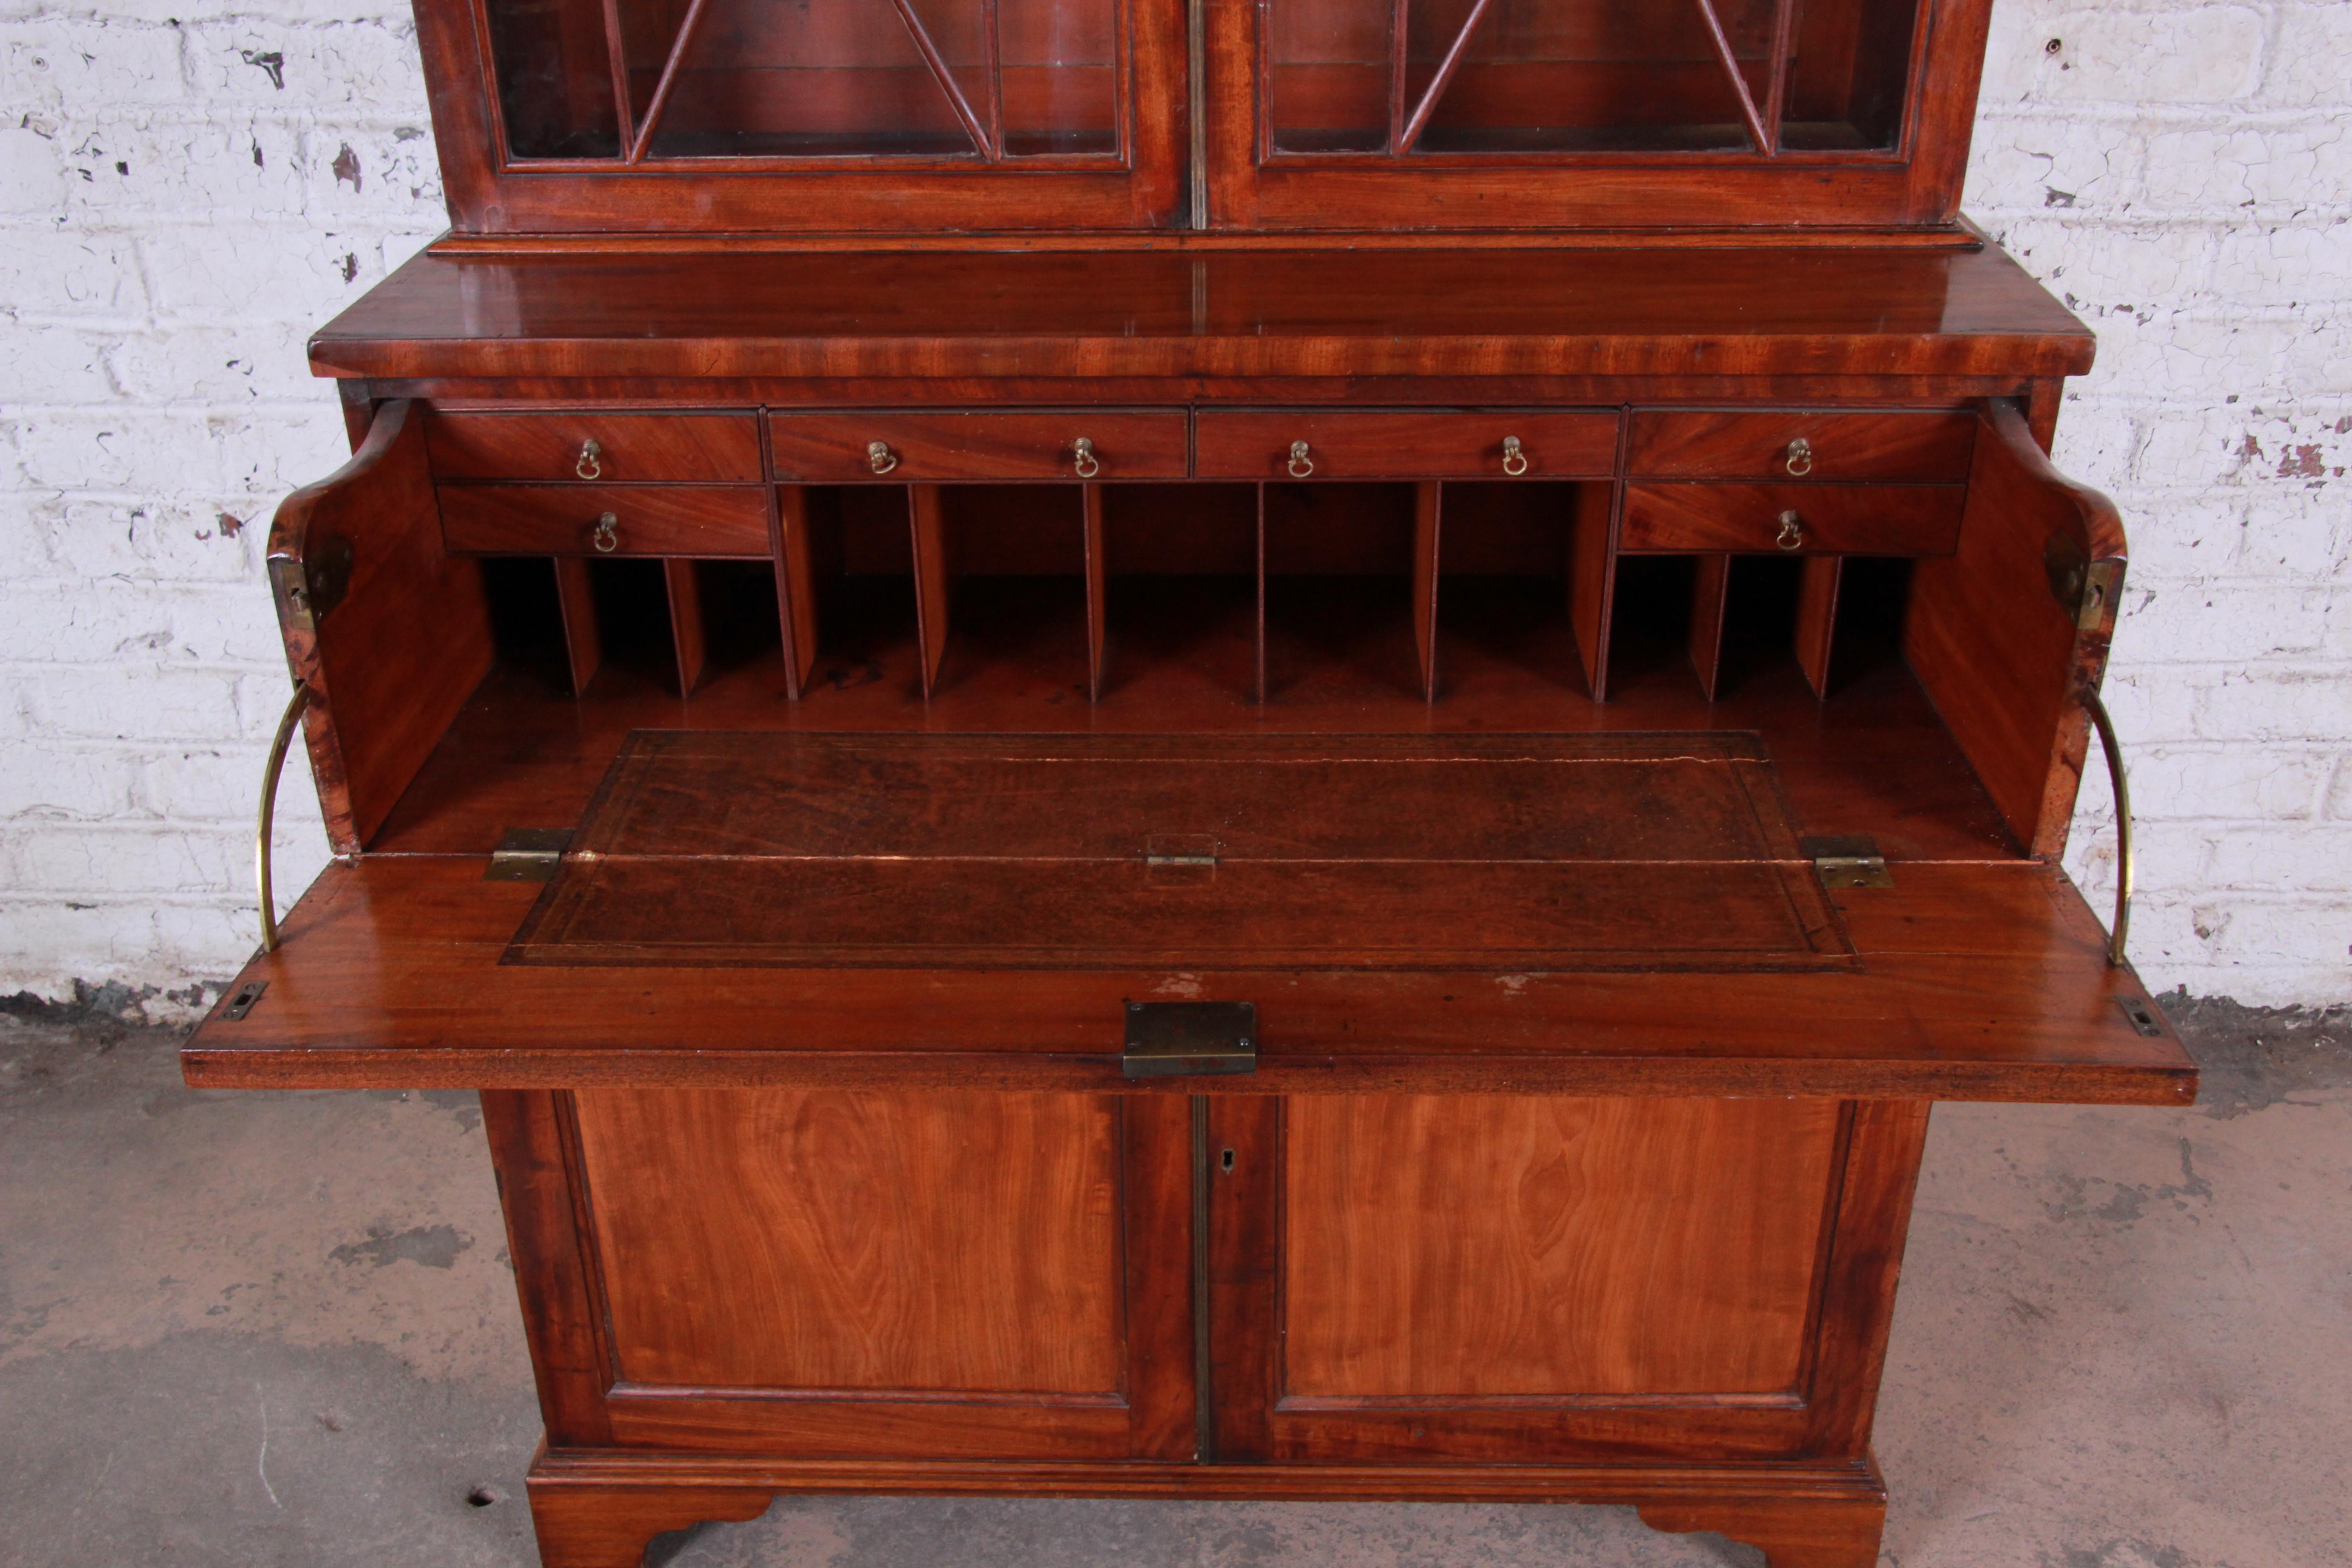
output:
<instances>
[{"instance_id":1,"label":"small one-knob drawer at upper left, top of its pair","mask_svg":"<svg viewBox=\"0 0 2352 1568\"><path fill-rule=\"evenodd\" d=\"M437 480L757 484L753 414L435 414Z\"/></svg>"}]
</instances>

